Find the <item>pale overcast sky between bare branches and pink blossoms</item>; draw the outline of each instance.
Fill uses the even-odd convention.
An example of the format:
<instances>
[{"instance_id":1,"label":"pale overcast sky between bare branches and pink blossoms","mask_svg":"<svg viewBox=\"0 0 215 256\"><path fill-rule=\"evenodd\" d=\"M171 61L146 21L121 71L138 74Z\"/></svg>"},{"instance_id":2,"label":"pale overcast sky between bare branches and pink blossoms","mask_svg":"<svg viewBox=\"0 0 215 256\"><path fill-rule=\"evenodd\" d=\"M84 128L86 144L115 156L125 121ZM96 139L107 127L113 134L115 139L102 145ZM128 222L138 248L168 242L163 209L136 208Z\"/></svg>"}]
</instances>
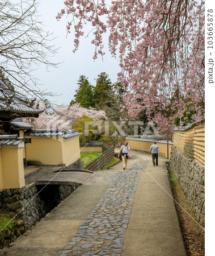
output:
<instances>
[{"instance_id":1,"label":"pale overcast sky between bare branches and pink blossoms","mask_svg":"<svg viewBox=\"0 0 215 256\"><path fill-rule=\"evenodd\" d=\"M61 21L56 20L56 15L64 7L64 1L45 0L39 4L40 20L45 25L45 31L53 32L56 39L53 41L56 47L60 47L56 56L52 59L55 63L61 63L58 68L49 68L46 72L43 67L39 67L33 75L39 77L43 89L54 93L62 94L54 97L57 104L69 104L77 89L77 80L79 76L85 75L89 78L91 84L95 85L96 77L101 72L106 72L112 82L116 82L117 73L120 71L119 63L111 57L106 46L106 55L104 61L99 56L93 60L94 46L90 43L91 39L81 41L79 50L73 53L73 35L72 32L66 38L66 17ZM108 38L106 43L108 42Z\"/></svg>"}]
</instances>

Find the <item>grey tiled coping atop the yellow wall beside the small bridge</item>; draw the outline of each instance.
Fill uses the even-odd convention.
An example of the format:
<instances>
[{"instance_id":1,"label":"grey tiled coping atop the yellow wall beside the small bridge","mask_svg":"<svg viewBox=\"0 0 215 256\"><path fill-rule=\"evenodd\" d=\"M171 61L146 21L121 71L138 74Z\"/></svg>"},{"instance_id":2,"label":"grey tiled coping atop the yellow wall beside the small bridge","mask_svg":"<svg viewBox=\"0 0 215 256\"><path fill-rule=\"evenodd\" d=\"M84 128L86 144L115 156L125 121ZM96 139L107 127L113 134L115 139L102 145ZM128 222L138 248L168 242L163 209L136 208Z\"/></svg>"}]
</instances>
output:
<instances>
[{"instance_id":1,"label":"grey tiled coping atop the yellow wall beside the small bridge","mask_svg":"<svg viewBox=\"0 0 215 256\"><path fill-rule=\"evenodd\" d=\"M63 137L65 139L70 139L81 135L75 130L62 131L60 129L38 129L38 130L29 130L25 133L26 136L45 136L45 137Z\"/></svg>"}]
</instances>

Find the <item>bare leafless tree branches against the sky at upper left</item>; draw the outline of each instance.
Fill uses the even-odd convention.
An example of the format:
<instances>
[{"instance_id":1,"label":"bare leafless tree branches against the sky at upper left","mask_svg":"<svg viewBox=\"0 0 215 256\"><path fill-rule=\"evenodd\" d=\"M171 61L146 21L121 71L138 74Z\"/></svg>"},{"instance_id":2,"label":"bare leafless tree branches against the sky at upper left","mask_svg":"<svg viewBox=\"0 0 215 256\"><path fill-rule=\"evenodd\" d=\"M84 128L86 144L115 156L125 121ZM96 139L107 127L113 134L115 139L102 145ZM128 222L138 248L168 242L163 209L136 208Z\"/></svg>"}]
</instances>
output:
<instances>
[{"instance_id":1,"label":"bare leafless tree branches against the sky at upper left","mask_svg":"<svg viewBox=\"0 0 215 256\"><path fill-rule=\"evenodd\" d=\"M50 58L57 49L50 44L54 39L52 34L43 30L37 6L35 0L20 0L19 5L10 0L0 2L0 71L15 90L44 101L54 94L40 90L32 71L40 65L47 69L55 67L57 63L51 62Z\"/></svg>"}]
</instances>

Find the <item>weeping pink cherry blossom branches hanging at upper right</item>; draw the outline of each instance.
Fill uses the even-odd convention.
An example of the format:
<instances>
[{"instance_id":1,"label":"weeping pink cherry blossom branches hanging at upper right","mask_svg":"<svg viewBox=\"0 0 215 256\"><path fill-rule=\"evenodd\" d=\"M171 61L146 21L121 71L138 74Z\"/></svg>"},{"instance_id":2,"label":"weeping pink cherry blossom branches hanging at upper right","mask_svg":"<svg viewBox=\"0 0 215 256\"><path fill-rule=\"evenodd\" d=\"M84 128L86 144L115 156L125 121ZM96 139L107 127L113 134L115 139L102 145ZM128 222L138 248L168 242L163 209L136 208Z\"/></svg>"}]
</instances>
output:
<instances>
[{"instance_id":1,"label":"weeping pink cherry blossom branches hanging at upper right","mask_svg":"<svg viewBox=\"0 0 215 256\"><path fill-rule=\"evenodd\" d=\"M92 26L94 59L109 51L119 57L119 81L124 84L125 108L141 110L162 131L174 128L175 118L204 115L204 1L70 0L57 15L68 14L74 51ZM172 100L178 93L179 97Z\"/></svg>"}]
</instances>

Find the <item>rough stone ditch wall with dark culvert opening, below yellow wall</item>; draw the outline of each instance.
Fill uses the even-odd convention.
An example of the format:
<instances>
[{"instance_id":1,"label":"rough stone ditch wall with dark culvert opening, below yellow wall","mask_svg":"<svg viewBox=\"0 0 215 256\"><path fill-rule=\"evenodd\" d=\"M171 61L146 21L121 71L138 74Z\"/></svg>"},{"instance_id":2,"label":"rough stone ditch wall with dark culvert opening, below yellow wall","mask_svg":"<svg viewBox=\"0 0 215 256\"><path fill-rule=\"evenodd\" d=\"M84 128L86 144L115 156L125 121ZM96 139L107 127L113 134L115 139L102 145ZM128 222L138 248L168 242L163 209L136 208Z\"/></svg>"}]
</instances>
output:
<instances>
[{"instance_id":1,"label":"rough stone ditch wall with dark culvert opening, below yellow wall","mask_svg":"<svg viewBox=\"0 0 215 256\"><path fill-rule=\"evenodd\" d=\"M44 187L32 183L23 188L3 189L0 193L1 208L19 213L18 217L30 228L77 188L70 185Z\"/></svg>"}]
</instances>

